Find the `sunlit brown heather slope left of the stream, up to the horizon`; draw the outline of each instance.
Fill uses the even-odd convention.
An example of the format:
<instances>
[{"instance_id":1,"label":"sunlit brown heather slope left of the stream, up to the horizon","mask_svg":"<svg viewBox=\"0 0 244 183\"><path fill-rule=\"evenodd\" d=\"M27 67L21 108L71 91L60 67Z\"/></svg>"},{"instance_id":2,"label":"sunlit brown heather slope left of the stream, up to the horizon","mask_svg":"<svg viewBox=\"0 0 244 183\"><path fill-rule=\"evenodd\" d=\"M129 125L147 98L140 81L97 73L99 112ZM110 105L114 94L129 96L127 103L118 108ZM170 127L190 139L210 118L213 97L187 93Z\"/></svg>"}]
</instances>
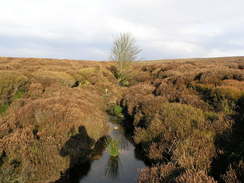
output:
<instances>
[{"instance_id":1,"label":"sunlit brown heather slope left of the stream, up to the horizon","mask_svg":"<svg viewBox=\"0 0 244 183\"><path fill-rule=\"evenodd\" d=\"M0 182L57 180L107 134L106 103L119 95L113 75L93 62L1 58L0 66L5 69L0 70L0 107L8 104L0 117ZM84 78L84 68L99 79ZM15 97L19 90L24 95ZM61 149L81 127L93 141L87 144L84 137L77 145L81 155L70 149L62 156Z\"/></svg>"}]
</instances>

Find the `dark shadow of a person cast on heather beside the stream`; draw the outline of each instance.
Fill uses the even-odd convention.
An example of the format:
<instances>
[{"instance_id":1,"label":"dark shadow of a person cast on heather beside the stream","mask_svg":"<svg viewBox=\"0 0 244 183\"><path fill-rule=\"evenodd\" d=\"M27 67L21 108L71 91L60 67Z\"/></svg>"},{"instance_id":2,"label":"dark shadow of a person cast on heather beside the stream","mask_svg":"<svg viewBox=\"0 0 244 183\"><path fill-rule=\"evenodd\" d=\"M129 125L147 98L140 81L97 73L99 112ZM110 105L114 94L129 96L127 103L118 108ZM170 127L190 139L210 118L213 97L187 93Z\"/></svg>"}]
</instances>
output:
<instances>
[{"instance_id":1,"label":"dark shadow of a person cast on heather beside the stream","mask_svg":"<svg viewBox=\"0 0 244 183\"><path fill-rule=\"evenodd\" d=\"M79 127L79 133L70 137L60 150L60 155L70 157L70 166L55 183L78 183L90 171L93 159L101 157L105 149L106 137L97 143L90 138L85 127Z\"/></svg>"}]
</instances>

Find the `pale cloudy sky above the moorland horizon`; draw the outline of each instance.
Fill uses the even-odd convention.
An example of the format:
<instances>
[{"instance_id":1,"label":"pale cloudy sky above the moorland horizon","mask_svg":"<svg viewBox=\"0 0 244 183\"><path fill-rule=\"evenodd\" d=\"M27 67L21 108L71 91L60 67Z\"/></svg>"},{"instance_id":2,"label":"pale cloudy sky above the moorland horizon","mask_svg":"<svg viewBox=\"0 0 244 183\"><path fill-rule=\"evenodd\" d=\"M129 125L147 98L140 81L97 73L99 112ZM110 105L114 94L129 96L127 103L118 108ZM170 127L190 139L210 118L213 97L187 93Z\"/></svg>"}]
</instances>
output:
<instances>
[{"instance_id":1,"label":"pale cloudy sky above the moorland horizon","mask_svg":"<svg viewBox=\"0 0 244 183\"><path fill-rule=\"evenodd\" d=\"M108 60L125 32L143 60L244 55L243 0L0 1L0 56Z\"/></svg>"}]
</instances>

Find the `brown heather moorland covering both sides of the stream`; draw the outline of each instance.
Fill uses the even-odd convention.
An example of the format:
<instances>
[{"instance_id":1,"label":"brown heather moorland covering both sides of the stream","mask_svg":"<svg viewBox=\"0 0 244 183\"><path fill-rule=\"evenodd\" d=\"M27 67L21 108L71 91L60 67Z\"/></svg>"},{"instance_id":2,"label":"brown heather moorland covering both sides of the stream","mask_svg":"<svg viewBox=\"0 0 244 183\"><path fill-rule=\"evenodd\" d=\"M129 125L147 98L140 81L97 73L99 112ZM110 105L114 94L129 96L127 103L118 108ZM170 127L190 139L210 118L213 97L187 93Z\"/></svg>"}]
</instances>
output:
<instances>
[{"instance_id":1,"label":"brown heather moorland covering both sides of the stream","mask_svg":"<svg viewBox=\"0 0 244 183\"><path fill-rule=\"evenodd\" d=\"M138 182L243 182L243 62L136 62L121 87L111 62L2 57L0 183L50 183L99 156L114 104L151 163Z\"/></svg>"}]
</instances>

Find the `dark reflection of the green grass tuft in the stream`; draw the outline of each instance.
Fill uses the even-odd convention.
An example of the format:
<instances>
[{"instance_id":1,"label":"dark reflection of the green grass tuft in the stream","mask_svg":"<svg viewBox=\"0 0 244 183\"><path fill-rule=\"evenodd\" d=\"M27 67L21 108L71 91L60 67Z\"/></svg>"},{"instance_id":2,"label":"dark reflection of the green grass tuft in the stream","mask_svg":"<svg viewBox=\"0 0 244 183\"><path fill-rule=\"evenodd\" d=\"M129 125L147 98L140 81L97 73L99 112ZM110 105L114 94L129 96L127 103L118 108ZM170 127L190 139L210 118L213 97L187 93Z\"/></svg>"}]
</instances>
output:
<instances>
[{"instance_id":1,"label":"dark reflection of the green grass tuft in the stream","mask_svg":"<svg viewBox=\"0 0 244 183\"><path fill-rule=\"evenodd\" d=\"M121 167L121 161L119 156L110 156L108 159L107 167L105 170L105 176L115 179L119 176L119 169Z\"/></svg>"}]
</instances>

